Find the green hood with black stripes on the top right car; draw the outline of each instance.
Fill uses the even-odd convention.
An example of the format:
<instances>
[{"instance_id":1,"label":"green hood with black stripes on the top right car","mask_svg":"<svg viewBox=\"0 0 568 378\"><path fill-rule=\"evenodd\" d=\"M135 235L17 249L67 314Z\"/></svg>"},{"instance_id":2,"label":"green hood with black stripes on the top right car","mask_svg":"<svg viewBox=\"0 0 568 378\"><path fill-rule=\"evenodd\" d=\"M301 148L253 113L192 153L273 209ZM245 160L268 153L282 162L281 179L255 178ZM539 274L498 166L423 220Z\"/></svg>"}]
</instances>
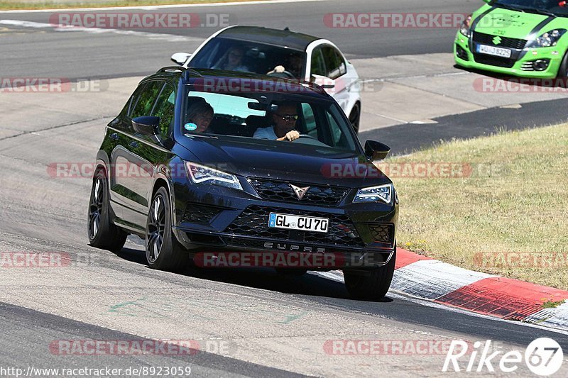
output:
<instances>
[{"instance_id":1,"label":"green hood with black stripes on the top right car","mask_svg":"<svg viewBox=\"0 0 568 378\"><path fill-rule=\"evenodd\" d=\"M568 18L549 17L542 14L510 11L508 9L482 6L471 17L474 31L509 38L529 39L529 35L540 35L557 28L568 29Z\"/></svg>"}]
</instances>

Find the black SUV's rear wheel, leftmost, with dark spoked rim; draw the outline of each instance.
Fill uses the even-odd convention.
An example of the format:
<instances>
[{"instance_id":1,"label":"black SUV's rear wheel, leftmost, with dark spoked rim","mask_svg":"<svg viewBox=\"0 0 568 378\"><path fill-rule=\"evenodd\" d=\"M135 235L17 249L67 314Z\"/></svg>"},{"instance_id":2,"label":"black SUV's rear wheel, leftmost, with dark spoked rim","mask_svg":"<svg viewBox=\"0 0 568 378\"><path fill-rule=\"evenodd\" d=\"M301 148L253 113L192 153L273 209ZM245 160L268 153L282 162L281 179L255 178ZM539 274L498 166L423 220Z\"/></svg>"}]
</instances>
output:
<instances>
[{"instance_id":1,"label":"black SUV's rear wheel, leftmost, with dark spoked rim","mask_svg":"<svg viewBox=\"0 0 568 378\"><path fill-rule=\"evenodd\" d=\"M119 252L126 243L128 233L111 221L109 187L104 170L98 169L93 177L93 186L87 212L87 236L89 245L112 252Z\"/></svg>"}]
</instances>

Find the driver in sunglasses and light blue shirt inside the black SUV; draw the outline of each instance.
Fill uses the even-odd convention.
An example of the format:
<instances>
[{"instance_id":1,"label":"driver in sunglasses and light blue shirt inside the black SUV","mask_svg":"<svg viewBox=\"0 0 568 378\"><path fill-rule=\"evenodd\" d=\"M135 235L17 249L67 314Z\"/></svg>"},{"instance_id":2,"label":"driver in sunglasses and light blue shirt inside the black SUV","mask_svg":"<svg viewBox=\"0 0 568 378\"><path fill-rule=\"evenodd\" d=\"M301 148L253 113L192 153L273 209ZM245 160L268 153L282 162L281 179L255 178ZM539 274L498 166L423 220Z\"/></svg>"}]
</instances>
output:
<instances>
[{"instance_id":1,"label":"driver in sunglasses and light blue shirt inside the black SUV","mask_svg":"<svg viewBox=\"0 0 568 378\"><path fill-rule=\"evenodd\" d=\"M296 109L296 104L293 102L280 104L278 113L272 114L273 124L267 128L257 128L253 137L270 140L289 140L290 142L300 138L300 133L294 130L298 118Z\"/></svg>"}]
</instances>

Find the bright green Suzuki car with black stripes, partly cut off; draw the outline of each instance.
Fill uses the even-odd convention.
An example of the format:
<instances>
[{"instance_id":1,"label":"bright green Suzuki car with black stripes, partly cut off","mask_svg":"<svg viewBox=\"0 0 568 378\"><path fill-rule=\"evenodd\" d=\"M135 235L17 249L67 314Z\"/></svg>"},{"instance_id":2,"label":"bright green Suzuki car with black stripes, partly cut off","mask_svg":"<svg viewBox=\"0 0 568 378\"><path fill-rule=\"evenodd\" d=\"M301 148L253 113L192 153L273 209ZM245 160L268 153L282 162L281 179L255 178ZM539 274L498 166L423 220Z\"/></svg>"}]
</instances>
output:
<instances>
[{"instance_id":1,"label":"bright green Suzuki car with black stripes, partly cut off","mask_svg":"<svg viewBox=\"0 0 568 378\"><path fill-rule=\"evenodd\" d=\"M568 77L567 1L484 1L457 32L457 65L520 77Z\"/></svg>"}]
</instances>

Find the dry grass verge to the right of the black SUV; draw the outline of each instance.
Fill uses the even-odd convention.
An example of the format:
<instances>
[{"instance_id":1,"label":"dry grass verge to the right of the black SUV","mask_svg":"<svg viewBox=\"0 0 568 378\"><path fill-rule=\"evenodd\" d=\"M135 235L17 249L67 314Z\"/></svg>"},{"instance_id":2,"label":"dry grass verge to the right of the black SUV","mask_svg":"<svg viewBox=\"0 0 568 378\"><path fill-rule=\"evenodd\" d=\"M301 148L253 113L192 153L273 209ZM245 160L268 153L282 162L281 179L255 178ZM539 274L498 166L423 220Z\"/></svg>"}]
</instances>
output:
<instances>
[{"instance_id":1,"label":"dry grass verge to the right of the black SUV","mask_svg":"<svg viewBox=\"0 0 568 378\"><path fill-rule=\"evenodd\" d=\"M410 178L435 162L459 163L467 177ZM400 247L568 289L568 124L442 143L385 164L408 166L391 174Z\"/></svg>"}]
</instances>

